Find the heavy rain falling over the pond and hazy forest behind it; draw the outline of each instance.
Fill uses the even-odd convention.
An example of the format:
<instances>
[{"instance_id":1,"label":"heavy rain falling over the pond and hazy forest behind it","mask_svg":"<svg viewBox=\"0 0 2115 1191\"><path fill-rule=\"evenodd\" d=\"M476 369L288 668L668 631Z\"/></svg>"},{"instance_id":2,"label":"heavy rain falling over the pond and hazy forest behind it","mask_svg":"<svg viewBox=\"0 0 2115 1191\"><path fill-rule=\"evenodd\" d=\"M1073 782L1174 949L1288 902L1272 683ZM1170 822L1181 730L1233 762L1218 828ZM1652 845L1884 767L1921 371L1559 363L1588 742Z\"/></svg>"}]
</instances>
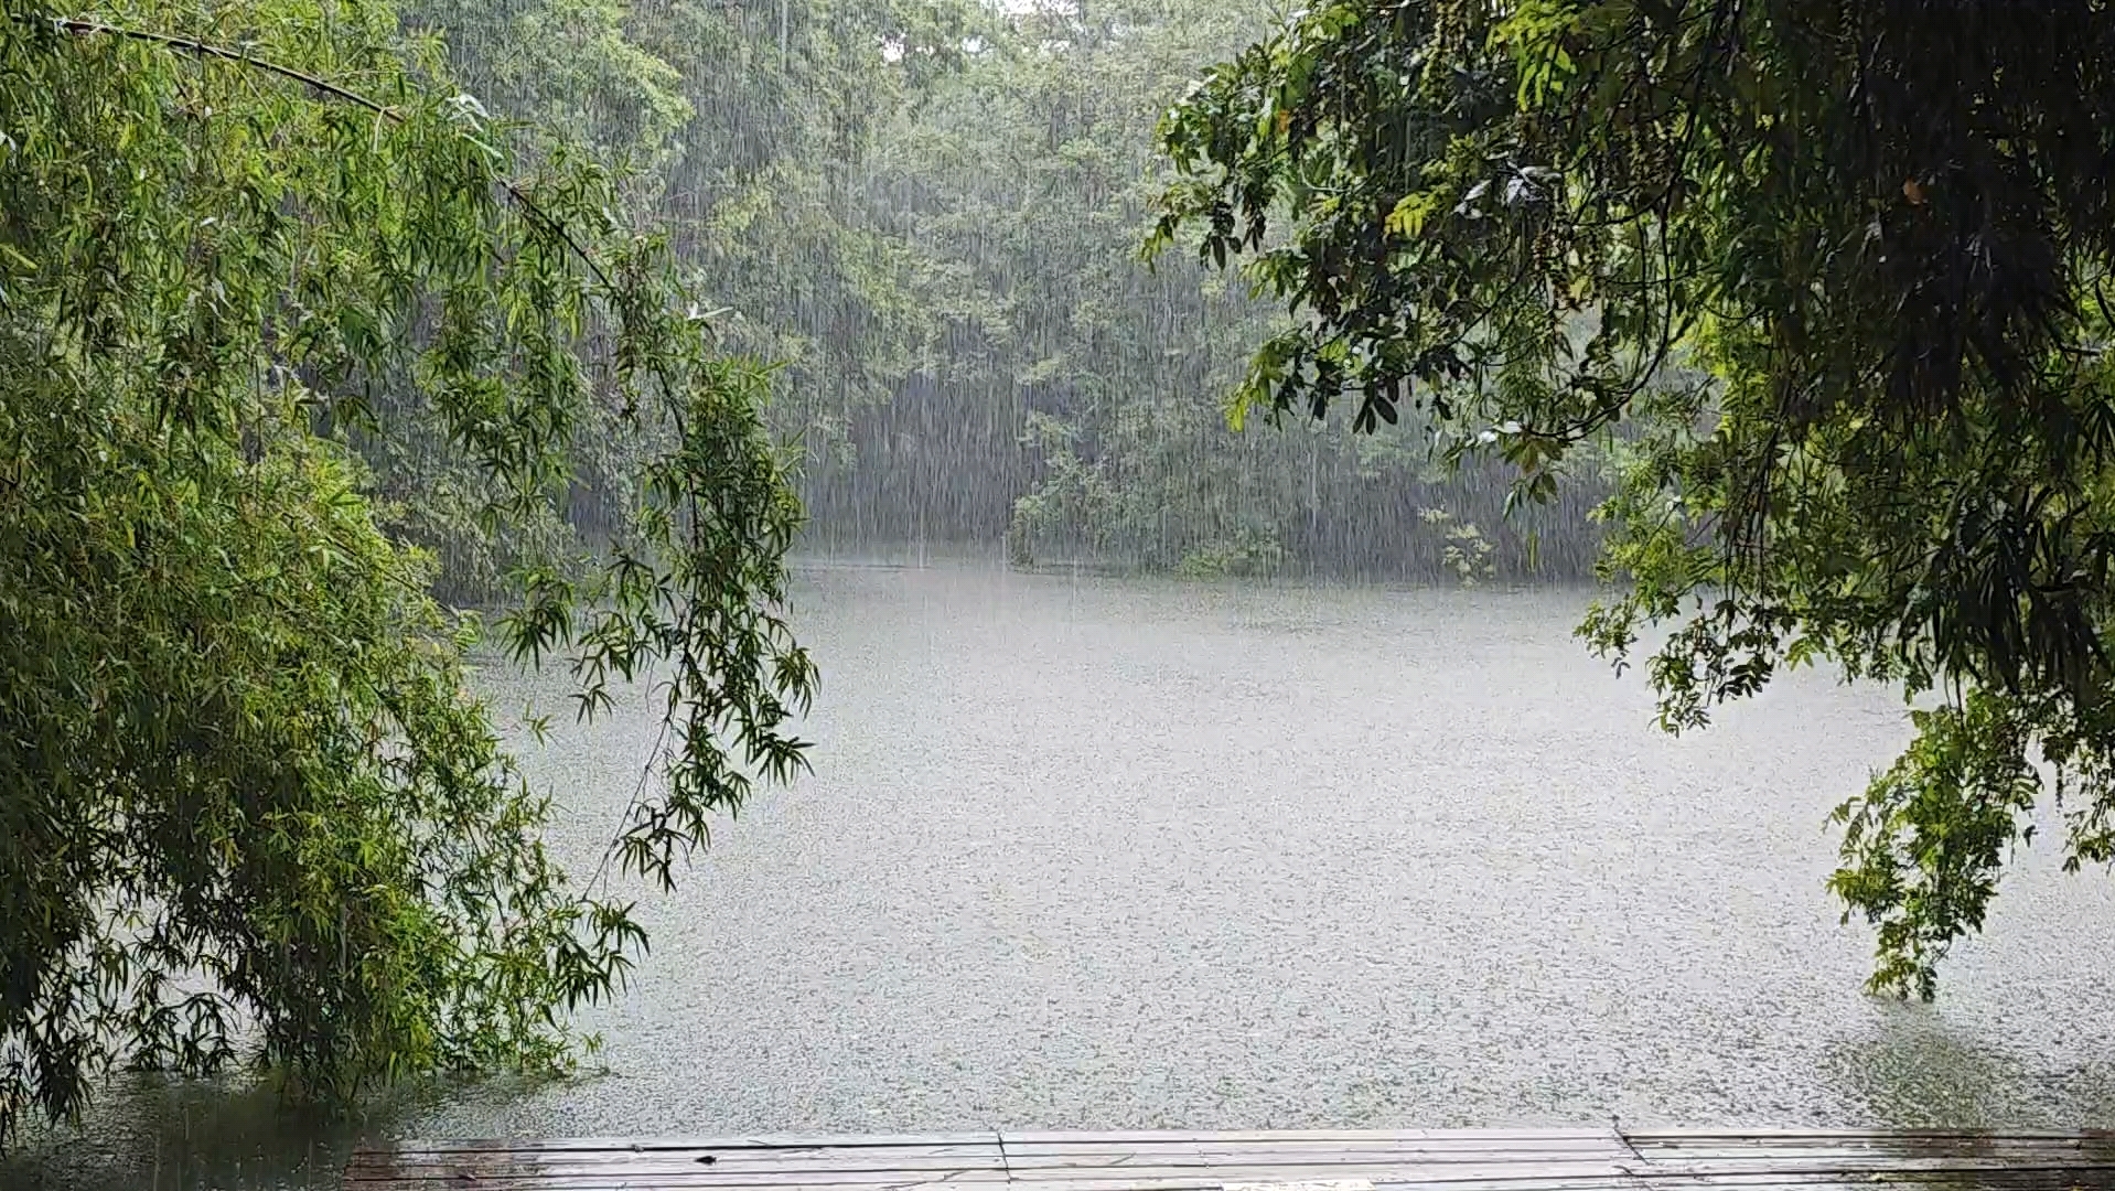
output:
<instances>
[{"instance_id":1,"label":"heavy rain falling over the pond and hazy forest behind it","mask_svg":"<svg viewBox=\"0 0 2115 1191\"><path fill-rule=\"evenodd\" d=\"M611 169L715 343L772 366L812 772L715 823L673 893L624 886L651 952L582 1013L580 1075L349 1117L123 1077L6 1187L338 1187L406 1136L2115 1111L2115 893L2047 850L1939 1003L1863 994L1825 819L1908 740L1897 692L1789 673L1673 736L1574 637L1620 434L1529 497L1478 448L1506 427L1242 398L1311 313L1189 233L1146 250L1182 184L1155 129L1280 6L400 17L525 154ZM592 535L599 499L548 531ZM436 548L478 603L499 565ZM556 857L592 872L658 747L651 690L577 721L563 673L476 677L560 808Z\"/></svg>"}]
</instances>

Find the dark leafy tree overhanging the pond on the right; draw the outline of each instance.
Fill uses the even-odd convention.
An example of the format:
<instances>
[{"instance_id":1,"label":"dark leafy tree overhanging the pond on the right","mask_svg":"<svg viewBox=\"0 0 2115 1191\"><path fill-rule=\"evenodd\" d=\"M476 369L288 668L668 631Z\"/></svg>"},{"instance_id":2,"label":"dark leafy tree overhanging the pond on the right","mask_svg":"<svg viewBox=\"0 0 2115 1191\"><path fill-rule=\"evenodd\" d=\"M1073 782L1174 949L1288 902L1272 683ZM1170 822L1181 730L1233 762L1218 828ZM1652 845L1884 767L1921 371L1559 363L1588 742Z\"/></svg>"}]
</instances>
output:
<instances>
[{"instance_id":1,"label":"dark leafy tree overhanging the pond on the right","mask_svg":"<svg viewBox=\"0 0 2115 1191\"><path fill-rule=\"evenodd\" d=\"M1157 243L1303 311L1250 406L1426 406L1523 497L1620 427L1582 635L1677 622L1667 728L1933 696L1832 880L1931 996L2035 804L2115 859L2111 108L2085 0L1328 0L1170 112Z\"/></svg>"}]
</instances>

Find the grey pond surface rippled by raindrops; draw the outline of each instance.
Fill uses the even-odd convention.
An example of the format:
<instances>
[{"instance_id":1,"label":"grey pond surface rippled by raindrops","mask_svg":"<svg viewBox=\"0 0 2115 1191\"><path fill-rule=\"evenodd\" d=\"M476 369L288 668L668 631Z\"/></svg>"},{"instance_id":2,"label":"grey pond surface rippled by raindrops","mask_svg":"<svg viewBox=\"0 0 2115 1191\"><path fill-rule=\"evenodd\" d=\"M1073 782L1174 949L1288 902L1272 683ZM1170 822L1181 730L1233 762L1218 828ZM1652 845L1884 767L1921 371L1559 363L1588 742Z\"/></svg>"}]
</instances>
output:
<instances>
[{"instance_id":1,"label":"grey pond surface rippled by raindrops","mask_svg":"<svg viewBox=\"0 0 2115 1191\"><path fill-rule=\"evenodd\" d=\"M808 569L816 772L649 905L607 1073L341 1125L116 1096L27 1180L328 1185L360 1134L2115 1121L2104 876L2041 848L1937 1005L1863 996L1823 814L1897 702L1804 675L1673 740L1584 601ZM567 855L649 740L531 755Z\"/></svg>"}]
</instances>

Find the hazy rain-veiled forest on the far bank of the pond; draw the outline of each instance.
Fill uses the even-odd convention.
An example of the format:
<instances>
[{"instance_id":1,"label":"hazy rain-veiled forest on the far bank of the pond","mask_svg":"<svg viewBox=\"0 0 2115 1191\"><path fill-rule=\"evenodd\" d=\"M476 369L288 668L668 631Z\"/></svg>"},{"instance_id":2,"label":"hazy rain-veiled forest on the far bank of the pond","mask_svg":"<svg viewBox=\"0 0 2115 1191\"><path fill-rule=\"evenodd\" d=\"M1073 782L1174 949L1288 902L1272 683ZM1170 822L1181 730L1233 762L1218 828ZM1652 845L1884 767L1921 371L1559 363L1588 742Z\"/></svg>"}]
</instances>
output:
<instances>
[{"instance_id":1,"label":"hazy rain-veiled forest on the far bank of the pond","mask_svg":"<svg viewBox=\"0 0 2115 1191\"><path fill-rule=\"evenodd\" d=\"M1267 28L1263 4L423 0L406 21L495 114L624 171L728 345L780 366L768 417L797 451L808 550L1447 582L1590 567L1593 465L1508 516L1502 472L1447 463L1430 425L1229 419L1288 315L1140 245L1170 173L1157 121ZM450 529L474 503L383 476L463 594L486 588L497 563Z\"/></svg>"}]
</instances>

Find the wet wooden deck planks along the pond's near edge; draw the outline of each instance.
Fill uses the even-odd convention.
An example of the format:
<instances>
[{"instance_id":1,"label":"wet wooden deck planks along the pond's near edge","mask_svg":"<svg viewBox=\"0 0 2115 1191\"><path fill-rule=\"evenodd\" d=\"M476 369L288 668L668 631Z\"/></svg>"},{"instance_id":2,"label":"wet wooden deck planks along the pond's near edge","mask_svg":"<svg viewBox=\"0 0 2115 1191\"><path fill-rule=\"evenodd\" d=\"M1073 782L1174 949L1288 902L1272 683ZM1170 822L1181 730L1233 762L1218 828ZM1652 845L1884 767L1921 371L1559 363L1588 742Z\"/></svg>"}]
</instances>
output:
<instances>
[{"instance_id":1,"label":"wet wooden deck planks along the pond's near edge","mask_svg":"<svg viewBox=\"0 0 2115 1191\"><path fill-rule=\"evenodd\" d=\"M1292 1130L396 1142L347 1191L2115 1191L2115 1132Z\"/></svg>"}]
</instances>

